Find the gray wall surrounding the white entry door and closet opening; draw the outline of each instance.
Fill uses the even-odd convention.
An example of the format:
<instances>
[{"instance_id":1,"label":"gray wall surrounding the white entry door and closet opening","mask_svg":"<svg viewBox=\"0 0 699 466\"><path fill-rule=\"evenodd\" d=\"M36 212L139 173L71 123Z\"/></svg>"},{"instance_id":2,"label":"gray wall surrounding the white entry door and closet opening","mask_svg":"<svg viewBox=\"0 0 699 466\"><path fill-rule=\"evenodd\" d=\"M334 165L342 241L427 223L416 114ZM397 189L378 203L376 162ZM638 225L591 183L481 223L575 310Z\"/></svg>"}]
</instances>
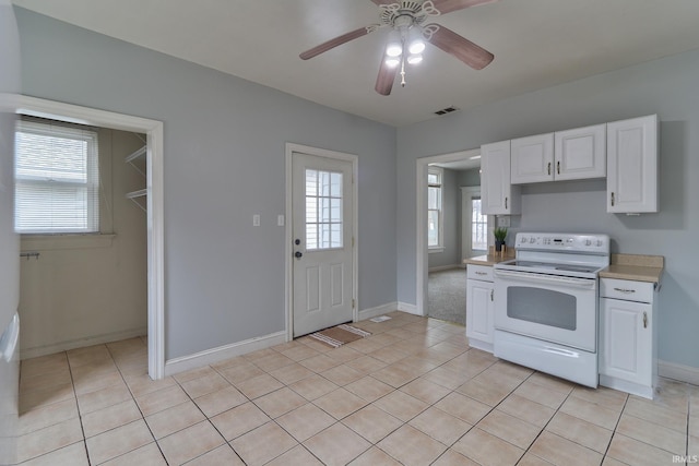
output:
<instances>
[{"instance_id":1,"label":"gray wall surrounding the white entry door and closet opening","mask_svg":"<svg viewBox=\"0 0 699 466\"><path fill-rule=\"evenodd\" d=\"M16 9L24 93L165 123L166 359L285 328L285 143L359 157L359 309L395 301L395 130ZM261 226L252 226L260 214Z\"/></svg>"}]
</instances>

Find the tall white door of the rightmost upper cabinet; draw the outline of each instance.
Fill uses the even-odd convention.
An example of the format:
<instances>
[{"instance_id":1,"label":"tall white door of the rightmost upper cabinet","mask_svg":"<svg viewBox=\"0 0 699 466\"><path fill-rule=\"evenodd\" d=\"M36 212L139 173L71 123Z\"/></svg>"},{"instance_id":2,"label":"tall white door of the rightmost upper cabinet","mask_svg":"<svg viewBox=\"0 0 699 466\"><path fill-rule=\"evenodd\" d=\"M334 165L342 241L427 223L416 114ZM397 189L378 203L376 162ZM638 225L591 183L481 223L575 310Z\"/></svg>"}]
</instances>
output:
<instances>
[{"instance_id":1,"label":"tall white door of the rightmost upper cabinet","mask_svg":"<svg viewBox=\"0 0 699 466\"><path fill-rule=\"evenodd\" d=\"M607 123L607 212L657 212L657 116Z\"/></svg>"}]
</instances>

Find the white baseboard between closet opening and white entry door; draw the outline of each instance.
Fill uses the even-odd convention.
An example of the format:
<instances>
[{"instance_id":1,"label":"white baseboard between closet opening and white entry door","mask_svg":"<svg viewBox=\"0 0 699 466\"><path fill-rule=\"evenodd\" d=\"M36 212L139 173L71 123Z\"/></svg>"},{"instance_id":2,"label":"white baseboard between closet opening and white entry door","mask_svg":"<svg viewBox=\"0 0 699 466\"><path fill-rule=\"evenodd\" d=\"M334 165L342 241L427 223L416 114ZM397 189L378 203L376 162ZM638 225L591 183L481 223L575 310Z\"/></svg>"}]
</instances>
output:
<instances>
[{"instance_id":1,"label":"white baseboard between closet opening and white entry door","mask_svg":"<svg viewBox=\"0 0 699 466\"><path fill-rule=\"evenodd\" d=\"M230 345L206 349L193 355L169 359L165 361L165 377L188 371L190 369L201 368L203 366L223 361L224 359L235 358L236 356L246 355L248 353L257 351L258 349L281 345L282 343L286 343L286 331L271 333L269 335L233 343Z\"/></svg>"}]
</instances>

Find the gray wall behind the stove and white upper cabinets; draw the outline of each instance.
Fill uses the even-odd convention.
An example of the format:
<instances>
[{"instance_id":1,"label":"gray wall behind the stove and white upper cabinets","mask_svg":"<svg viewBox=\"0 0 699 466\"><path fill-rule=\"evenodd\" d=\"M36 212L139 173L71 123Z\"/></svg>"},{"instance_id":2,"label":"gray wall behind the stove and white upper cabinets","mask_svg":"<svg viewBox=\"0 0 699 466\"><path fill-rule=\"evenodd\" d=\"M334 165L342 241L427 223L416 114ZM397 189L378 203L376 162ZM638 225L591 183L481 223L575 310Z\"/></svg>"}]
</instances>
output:
<instances>
[{"instance_id":1,"label":"gray wall behind the stove and white upper cabinets","mask_svg":"<svg viewBox=\"0 0 699 466\"><path fill-rule=\"evenodd\" d=\"M523 188L521 230L595 231L613 252L665 256L659 357L699 368L699 51L545 88L398 131L398 177L415 179L415 159L485 143L657 113L660 213L607 214L604 181ZM398 296L415 303L415 186L398 186ZM508 235L510 239L514 235Z\"/></svg>"}]
</instances>

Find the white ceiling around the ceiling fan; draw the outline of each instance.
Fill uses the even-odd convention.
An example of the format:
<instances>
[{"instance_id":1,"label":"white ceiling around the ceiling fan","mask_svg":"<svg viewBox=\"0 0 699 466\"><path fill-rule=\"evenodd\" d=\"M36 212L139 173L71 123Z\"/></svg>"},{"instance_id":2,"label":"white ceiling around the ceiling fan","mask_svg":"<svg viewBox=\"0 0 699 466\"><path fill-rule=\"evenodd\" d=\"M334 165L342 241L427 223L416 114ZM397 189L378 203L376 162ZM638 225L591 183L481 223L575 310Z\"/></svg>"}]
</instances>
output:
<instances>
[{"instance_id":1,"label":"white ceiling around the ceiling fan","mask_svg":"<svg viewBox=\"0 0 699 466\"><path fill-rule=\"evenodd\" d=\"M16 5L401 127L699 48L698 0L499 0L437 17L495 55L475 71L428 46L390 96L374 91L388 29L298 53L378 22L369 0L13 0ZM400 77L400 76L399 76ZM445 117L441 117L445 118Z\"/></svg>"}]
</instances>

